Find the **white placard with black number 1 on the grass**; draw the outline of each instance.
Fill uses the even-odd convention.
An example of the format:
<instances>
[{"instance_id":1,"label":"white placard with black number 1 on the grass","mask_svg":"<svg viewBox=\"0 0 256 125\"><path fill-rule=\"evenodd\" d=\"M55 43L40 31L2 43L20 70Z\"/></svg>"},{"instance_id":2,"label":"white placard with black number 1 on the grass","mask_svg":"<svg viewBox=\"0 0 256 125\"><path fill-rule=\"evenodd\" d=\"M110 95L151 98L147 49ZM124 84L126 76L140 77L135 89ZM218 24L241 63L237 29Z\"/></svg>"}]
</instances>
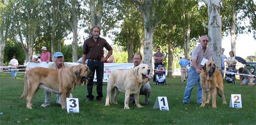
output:
<instances>
[{"instance_id":1,"label":"white placard with black number 1 on the grass","mask_svg":"<svg viewBox=\"0 0 256 125\"><path fill-rule=\"evenodd\" d=\"M169 111L169 105L167 101L167 97L157 97L157 100L154 104L153 109L160 109L161 111Z\"/></svg>"}]
</instances>

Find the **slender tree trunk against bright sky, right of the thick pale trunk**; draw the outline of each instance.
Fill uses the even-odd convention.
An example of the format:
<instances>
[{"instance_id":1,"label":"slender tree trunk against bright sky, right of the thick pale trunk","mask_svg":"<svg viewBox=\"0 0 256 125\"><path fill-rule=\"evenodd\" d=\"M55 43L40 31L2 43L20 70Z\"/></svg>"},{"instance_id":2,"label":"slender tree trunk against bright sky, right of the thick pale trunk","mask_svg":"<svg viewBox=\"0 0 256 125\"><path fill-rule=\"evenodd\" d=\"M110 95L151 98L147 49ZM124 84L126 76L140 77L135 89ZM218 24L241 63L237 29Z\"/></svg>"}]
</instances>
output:
<instances>
[{"instance_id":1,"label":"slender tree trunk against bright sky, right of the thick pale trunk","mask_svg":"<svg viewBox=\"0 0 256 125\"><path fill-rule=\"evenodd\" d=\"M231 50L236 55L236 0L232 1L232 21L231 21Z\"/></svg>"}]
</instances>

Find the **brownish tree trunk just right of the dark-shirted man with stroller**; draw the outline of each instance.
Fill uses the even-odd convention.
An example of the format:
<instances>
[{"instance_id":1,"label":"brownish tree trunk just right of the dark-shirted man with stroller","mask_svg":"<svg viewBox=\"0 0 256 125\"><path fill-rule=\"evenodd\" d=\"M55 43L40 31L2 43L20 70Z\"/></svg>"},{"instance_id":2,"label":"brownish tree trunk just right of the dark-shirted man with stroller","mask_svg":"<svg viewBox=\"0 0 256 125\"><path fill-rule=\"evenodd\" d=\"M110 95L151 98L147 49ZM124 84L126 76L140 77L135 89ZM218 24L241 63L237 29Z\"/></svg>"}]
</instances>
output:
<instances>
[{"instance_id":1,"label":"brownish tree trunk just right of the dark-shirted man with stroller","mask_svg":"<svg viewBox=\"0 0 256 125\"><path fill-rule=\"evenodd\" d=\"M169 40L168 43L168 70L172 70L172 63L173 63L173 45L172 45L172 41ZM172 73L171 71L169 71L167 73L167 77L172 77Z\"/></svg>"}]
</instances>

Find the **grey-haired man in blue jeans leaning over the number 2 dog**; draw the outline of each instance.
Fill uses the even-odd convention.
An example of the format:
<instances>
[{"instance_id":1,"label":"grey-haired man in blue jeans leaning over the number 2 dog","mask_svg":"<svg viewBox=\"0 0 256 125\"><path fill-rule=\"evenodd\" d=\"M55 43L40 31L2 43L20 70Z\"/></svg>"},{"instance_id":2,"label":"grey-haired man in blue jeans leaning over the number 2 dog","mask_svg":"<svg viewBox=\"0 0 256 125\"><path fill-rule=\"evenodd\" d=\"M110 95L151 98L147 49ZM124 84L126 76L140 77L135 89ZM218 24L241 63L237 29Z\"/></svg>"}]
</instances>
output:
<instances>
[{"instance_id":1,"label":"grey-haired man in blue jeans leaning over the number 2 dog","mask_svg":"<svg viewBox=\"0 0 256 125\"><path fill-rule=\"evenodd\" d=\"M198 82L198 93L197 93L197 102L199 104L202 103L202 88L199 74L201 73L201 69L204 64L201 65L202 60L206 59L212 61L212 51L208 45L208 37L201 36L200 45L196 46L191 54L192 64L189 68L189 77L187 81L187 85L184 92L183 104L188 104L190 102L190 96L192 89L195 84Z\"/></svg>"}]
</instances>

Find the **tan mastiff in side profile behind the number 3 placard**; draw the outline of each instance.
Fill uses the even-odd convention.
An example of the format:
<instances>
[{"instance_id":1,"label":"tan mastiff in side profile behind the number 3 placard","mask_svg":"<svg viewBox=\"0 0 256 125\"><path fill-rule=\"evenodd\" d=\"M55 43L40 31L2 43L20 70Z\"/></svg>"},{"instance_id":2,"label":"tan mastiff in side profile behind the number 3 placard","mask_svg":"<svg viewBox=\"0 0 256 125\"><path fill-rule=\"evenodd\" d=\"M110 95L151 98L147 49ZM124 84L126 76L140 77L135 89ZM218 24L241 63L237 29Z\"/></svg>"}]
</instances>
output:
<instances>
[{"instance_id":1,"label":"tan mastiff in side profile behind the number 3 placard","mask_svg":"<svg viewBox=\"0 0 256 125\"><path fill-rule=\"evenodd\" d=\"M86 65L75 65L64 69L36 67L27 71L24 76L24 91L20 99L26 98L26 108L32 109L32 99L39 88L61 94L61 108L65 109L66 97L69 97L76 85L92 76L92 71Z\"/></svg>"}]
</instances>

